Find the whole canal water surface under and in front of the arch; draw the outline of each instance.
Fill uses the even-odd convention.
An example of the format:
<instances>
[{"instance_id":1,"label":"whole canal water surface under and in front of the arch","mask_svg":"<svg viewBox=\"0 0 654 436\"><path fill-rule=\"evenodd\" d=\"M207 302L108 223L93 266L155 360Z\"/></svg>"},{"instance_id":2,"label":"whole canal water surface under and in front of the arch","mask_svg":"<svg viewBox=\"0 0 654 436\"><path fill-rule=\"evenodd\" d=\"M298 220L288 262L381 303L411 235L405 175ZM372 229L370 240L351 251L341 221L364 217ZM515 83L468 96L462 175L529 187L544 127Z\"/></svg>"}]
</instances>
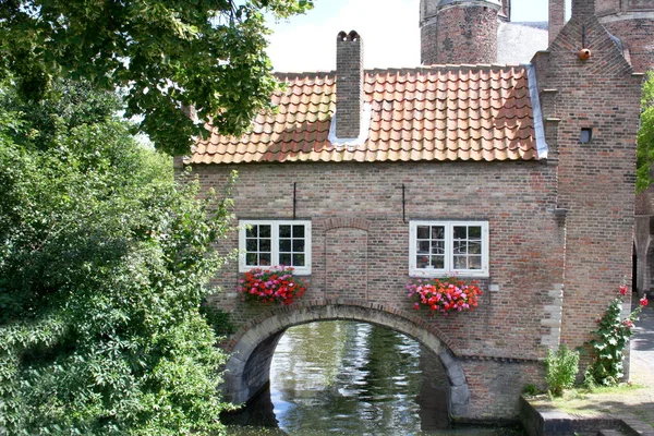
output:
<instances>
[{"instance_id":1,"label":"whole canal water surface under and in front of the arch","mask_svg":"<svg viewBox=\"0 0 654 436\"><path fill-rule=\"evenodd\" d=\"M513 427L453 427L443 365L417 341L372 324L289 328L269 389L225 416L230 435L523 435Z\"/></svg>"}]
</instances>

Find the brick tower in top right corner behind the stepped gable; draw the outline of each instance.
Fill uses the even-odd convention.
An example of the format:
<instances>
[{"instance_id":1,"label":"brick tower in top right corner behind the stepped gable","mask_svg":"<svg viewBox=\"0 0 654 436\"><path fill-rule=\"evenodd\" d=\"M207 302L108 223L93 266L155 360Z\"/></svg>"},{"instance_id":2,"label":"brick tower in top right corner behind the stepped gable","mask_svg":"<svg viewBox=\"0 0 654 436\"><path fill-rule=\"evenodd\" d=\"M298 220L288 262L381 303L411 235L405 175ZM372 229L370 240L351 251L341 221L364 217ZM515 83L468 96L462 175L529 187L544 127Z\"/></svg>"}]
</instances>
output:
<instances>
[{"instance_id":1,"label":"brick tower in top right corner behind the stepped gable","mask_svg":"<svg viewBox=\"0 0 654 436\"><path fill-rule=\"evenodd\" d=\"M654 68L654 0L596 0L596 14L635 71Z\"/></svg>"}]
</instances>

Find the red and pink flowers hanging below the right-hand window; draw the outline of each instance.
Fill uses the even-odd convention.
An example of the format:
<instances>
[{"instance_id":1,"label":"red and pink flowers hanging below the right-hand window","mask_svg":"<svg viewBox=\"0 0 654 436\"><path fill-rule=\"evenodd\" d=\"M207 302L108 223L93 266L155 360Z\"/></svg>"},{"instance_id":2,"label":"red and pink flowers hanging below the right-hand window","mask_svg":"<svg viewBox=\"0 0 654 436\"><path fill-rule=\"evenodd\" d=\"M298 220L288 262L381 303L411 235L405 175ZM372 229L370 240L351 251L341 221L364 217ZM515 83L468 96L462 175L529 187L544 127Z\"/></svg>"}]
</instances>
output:
<instances>
[{"instance_id":1,"label":"red and pink flowers hanging below the right-hand window","mask_svg":"<svg viewBox=\"0 0 654 436\"><path fill-rule=\"evenodd\" d=\"M428 308L432 313L472 311L479 305L483 293L476 281L465 283L456 277L440 279L410 279L407 284L409 296L415 301L413 307Z\"/></svg>"}]
</instances>

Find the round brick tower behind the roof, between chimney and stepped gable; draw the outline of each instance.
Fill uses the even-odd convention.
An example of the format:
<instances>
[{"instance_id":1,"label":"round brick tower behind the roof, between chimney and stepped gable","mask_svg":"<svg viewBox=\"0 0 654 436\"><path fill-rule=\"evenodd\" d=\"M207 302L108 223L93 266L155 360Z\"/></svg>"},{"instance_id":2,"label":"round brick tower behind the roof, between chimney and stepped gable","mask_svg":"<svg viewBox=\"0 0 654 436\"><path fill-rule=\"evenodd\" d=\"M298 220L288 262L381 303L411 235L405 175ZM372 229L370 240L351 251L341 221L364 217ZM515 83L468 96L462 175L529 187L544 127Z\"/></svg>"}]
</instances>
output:
<instances>
[{"instance_id":1,"label":"round brick tower behind the roof, between chimney and stepped gable","mask_svg":"<svg viewBox=\"0 0 654 436\"><path fill-rule=\"evenodd\" d=\"M421 62L495 63L498 20L509 0L421 0Z\"/></svg>"}]
</instances>

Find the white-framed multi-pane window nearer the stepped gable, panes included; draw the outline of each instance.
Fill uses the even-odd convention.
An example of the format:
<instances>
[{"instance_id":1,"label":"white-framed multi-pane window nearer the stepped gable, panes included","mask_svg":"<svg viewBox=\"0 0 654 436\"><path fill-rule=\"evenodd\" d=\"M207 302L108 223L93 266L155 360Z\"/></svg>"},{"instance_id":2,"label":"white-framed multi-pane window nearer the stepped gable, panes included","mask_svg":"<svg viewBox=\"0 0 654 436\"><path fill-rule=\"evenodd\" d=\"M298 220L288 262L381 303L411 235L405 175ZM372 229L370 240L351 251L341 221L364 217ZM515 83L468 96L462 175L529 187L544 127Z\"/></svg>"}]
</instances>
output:
<instances>
[{"instance_id":1,"label":"white-framed multi-pane window nearer the stepped gable, panes included","mask_svg":"<svg viewBox=\"0 0 654 436\"><path fill-rule=\"evenodd\" d=\"M488 277L488 221L411 221L411 276Z\"/></svg>"}]
</instances>

